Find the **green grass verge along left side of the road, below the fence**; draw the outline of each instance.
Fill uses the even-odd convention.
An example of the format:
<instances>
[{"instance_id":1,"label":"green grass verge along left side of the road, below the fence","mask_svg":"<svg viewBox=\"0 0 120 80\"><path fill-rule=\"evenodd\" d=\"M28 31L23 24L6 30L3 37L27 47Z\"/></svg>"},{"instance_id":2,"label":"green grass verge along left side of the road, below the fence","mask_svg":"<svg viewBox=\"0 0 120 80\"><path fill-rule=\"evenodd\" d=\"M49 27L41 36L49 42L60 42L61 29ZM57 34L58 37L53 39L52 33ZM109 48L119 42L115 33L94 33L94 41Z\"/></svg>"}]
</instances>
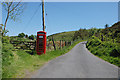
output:
<instances>
[{"instance_id":1,"label":"green grass verge along left side of the road, below the fence","mask_svg":"<svg viewBox=\"0 0 120 80\"><path fill-rule=\"evenodd\" d=\"M42 55L30 55L25 50L19 51L6 51L3 54L3 78L23 78L27 73L32 73L39 69L49 60L52 60L60 55L69 52L77 43L74 42L69 47L64 47L61 50L46 52ZM7 58L6 57L7 55Z\"/></svg>"}]
</instances>

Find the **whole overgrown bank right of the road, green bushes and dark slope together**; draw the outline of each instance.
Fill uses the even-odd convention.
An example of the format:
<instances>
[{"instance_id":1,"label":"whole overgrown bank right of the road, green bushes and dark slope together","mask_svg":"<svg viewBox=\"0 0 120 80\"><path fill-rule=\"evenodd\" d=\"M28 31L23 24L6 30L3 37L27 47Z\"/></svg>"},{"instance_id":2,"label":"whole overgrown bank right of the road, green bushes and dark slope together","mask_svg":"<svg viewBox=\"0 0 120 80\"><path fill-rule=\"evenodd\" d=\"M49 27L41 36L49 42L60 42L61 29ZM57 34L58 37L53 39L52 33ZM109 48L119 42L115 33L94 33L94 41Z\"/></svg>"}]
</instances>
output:
<instances>
[{"instance_id":1,"label":"whole overgrown bank right of the road, green bushes and dark slope together","mask_svg":"<svg viewBox=\"0 0 120 80\"><path fill-rule=\"evenodd\" d=\"M94 55L120 67L120 22L95 33L87 48Z\"/></svg>"}]
</instances>

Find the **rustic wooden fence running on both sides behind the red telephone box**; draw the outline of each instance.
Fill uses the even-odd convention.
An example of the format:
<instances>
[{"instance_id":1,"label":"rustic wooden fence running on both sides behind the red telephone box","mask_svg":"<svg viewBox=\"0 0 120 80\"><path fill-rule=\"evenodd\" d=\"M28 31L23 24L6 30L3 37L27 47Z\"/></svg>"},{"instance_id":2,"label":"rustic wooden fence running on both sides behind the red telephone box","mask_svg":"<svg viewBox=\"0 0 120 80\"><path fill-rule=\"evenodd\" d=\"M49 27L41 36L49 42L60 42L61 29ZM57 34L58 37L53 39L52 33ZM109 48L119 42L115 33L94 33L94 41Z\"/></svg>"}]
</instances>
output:
<instances>
[{"instance_id":1,"label":"rustic wooden fence running on both sides behind the red telephone box","mask_svg":"<svg viewBox=\"0 0 120 80\"><path fill-rule=\"evenodd\" d=\"M35 50L36 41L10 41L13 44L15 49L23 49L23 50ZM53 51L57 49L62 49L65 46L70 46L72 41L47 41L47 50Z\"/></svg>"}]
</instances>

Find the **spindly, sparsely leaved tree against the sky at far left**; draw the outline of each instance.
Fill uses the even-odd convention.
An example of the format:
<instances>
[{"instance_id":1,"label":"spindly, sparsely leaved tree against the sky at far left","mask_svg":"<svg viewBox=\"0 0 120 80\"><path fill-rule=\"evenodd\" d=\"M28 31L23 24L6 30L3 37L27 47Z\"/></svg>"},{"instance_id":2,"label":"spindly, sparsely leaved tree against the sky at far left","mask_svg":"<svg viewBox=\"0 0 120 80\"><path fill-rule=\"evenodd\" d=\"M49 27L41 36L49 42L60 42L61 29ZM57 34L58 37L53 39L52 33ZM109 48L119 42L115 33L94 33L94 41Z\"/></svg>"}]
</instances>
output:
<instances>
[{"instance_id":1,"label":"spindly, sparsely leaved tree against the sky at far left","mask_svg":"<svg viewBox=\"0 0 120 80\"><path fill-rule=\"evenodd\" d=\"M3 2L2 5L7 12L7 17L5 18L5 22L3 24L4 30L3 30L2 34L4 34L8 19L10 18L15 21L16 17L23 12L24 7L23 7L23 3L21 3L21 1L13 2L13 0L11 2Z\"/></svg>"}]
</instances>

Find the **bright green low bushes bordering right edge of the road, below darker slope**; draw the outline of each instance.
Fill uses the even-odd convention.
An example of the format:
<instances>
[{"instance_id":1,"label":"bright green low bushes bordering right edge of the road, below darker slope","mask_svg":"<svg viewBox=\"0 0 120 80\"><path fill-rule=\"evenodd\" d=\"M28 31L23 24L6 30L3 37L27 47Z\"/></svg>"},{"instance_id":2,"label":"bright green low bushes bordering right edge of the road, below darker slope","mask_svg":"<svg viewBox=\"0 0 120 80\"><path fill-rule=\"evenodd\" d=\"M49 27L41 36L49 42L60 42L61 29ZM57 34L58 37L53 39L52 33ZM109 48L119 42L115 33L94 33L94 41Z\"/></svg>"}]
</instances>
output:
<instances>
[{"instance_id":1,"label":"bright green low bushes bordering right edge of the road, below darker slope","mask_svg":"<svg viewBox=\"0 0 120 80\"><path fill-rule=\"evenodd\" d=\"M120 44L111 41L101 41L97 37L88 40L87 48L91 53L120 67Z\"/></svg>"}]
</instances>

